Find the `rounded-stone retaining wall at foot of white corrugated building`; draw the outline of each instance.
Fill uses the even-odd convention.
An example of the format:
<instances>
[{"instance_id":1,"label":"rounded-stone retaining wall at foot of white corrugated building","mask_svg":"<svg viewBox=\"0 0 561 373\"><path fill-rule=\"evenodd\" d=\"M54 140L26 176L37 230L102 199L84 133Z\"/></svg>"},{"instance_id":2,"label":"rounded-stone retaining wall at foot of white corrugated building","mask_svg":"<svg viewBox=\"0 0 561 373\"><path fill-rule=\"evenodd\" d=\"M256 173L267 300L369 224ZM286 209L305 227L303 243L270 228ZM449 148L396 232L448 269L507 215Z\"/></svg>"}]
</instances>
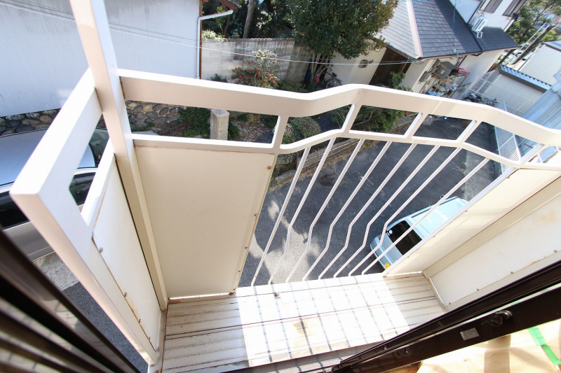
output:
<instances>
[{"instance_id":1,"label":"rounded-stone retaining wall at foot of white corrugated building","mask_svg":"<svg viewBox=\"0 0 561 373\"><path fill-rule=\"evenodd\" d=\"M155 104L153 102L127 100L127 114L130 129L144 131L147 127L163 123L175 122L180 118L179 110L184 106L168 104ZM0 117L0 136L20 132L45 129L50 126L57 116L60 108L34 113L23 113ZM97 124L98 128L105 128L103 117Z\"/></svg>"}]
</instances>

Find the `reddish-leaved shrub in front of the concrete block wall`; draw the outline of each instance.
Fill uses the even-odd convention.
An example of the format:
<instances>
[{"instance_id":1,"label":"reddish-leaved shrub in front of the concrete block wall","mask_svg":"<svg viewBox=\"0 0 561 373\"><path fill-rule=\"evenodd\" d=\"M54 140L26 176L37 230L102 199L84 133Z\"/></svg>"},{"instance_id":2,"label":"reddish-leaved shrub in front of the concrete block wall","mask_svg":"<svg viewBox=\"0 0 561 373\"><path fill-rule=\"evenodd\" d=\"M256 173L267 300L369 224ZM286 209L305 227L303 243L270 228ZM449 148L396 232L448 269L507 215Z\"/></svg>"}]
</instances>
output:
<instances>
[{"instance_id":1,"label":"reddish-leaved shrub in front of the concrete block wall","mask_svg":"<svg viewBox=\"0 0 561 373\"><path fill-rule=\"evenodd\" d=\"M252 60L243 66L232 69L238 84L252 85L253 87L277 88L279 80L278 56L272 50L260 49L253 52Z\"/></svg>"}]
</instances>

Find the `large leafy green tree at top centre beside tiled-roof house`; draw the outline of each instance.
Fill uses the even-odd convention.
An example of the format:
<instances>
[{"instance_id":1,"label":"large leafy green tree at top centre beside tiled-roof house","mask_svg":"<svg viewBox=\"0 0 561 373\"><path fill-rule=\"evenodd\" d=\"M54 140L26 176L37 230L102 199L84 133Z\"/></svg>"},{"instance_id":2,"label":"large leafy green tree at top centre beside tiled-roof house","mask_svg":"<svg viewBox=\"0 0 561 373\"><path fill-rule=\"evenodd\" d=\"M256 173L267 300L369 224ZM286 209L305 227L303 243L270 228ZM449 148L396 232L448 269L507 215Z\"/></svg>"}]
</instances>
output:
<instances>
[{"instance_id":1,"label":"large leafy green tree at top centre beside tiled-roof house","mask_svg":"<svg viewBox=\"0 0 561 373\"><path fill-rule=\"evenodd\" d=\"M350 59L384 46L376 34L386 27L398 0L287 0L288 21L297 43L313 50L318 62L337 52Z\"/></svg>"}]
</instances>

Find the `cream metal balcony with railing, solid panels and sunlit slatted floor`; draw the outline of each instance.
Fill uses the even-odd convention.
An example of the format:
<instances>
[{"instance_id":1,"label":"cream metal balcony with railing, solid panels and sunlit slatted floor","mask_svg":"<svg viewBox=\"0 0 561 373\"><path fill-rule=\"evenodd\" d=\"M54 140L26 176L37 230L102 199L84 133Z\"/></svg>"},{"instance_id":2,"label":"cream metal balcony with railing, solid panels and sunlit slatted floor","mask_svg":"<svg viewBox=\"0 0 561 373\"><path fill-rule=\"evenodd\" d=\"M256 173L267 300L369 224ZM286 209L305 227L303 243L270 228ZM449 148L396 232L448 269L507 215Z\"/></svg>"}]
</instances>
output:
<instances>
[{"instance_id":1,"label":"cream metal balcony with railing, solid panels and sunlit slatted floor","mask_svg":"<svg viewBox=\"0 0 561 373\"><path fill-rule=\"evenodd\" d=\"M379 87L299 94L117 69L103 2L71 3L90 69L11 195L151 370L325 367L559 260L553 227L561 208L561 165L556 155L539 155L548 148L558 154L561 132L490 106ZM276 115L278 122L271 143L130 134L125 100L219 106ZM289 118L346 105L342 128L282 143ZM418 114L403 134L358 131L352 125L362 106ZM68 185L100 115L111 141L79 211ZM455 139L421 136L428 115L468 122ZM538 145L515 160L501 156L473 143L485 126ZM305 244L295 249L295 221L309 209L306 200L337 139L358 143L313 211L302 233ZM379 144L377 155L367 160L370 167L353 192L341 195L337 188L371 141ZM299 185L311 148L325 142L307 185ZM387 164L396 146L401 153ZM256 248L252 238L276 159L295 152L303 152L295 176L269 216L266 244ZM372 273L396 243L376 257L368 248L371 227L384 234L421 193L440 195L435 181L459 154L473 155L473 164L396 243L484 167L496 162L502 173L384 272ZM410 160L413 167L404 171ZM373 171L377 183L370 185ZM398 177L396 188L384 189ZM353 201L363 192L370 197L359 206ZM369 209L372 202L375 209ZM336 216L322 216L329 204L337 204ZM345 211L354 218L339 222ZM360 218L368 220L364 227ZM322 219L328 229L316 227ZM334 234L338 222L344 229ZM279 229L286 234L280 244ZM344 244L330 248L337 234ZM313 237L326 245L317 246ZM242 272L245 286L239 286Z\"/></svg>"}]
</instances>

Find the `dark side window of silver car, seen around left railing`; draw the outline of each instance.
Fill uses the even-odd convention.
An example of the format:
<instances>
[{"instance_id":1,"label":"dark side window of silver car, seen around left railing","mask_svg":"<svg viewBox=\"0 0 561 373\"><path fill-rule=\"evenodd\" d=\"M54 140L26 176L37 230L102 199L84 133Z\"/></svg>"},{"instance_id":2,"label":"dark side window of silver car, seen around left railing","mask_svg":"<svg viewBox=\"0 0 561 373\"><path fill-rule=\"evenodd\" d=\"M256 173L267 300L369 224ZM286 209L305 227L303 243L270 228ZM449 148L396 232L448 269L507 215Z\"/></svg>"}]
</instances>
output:
<instances>
[{"instance_id":1,"label":"dark side window of silver car, seen around left railing","mask_svg":"<svg viewBox=\"0 0 561 373\"><path fill-rule=\"evenodd\" d=\"M70 193L76 204L80 206L86 201L95 173L76 175L70 183ZM8 192L0 194L0 225L4 228L13 227L27 222L28 219L13 202Z\"/></svg>"}]
</instances>

